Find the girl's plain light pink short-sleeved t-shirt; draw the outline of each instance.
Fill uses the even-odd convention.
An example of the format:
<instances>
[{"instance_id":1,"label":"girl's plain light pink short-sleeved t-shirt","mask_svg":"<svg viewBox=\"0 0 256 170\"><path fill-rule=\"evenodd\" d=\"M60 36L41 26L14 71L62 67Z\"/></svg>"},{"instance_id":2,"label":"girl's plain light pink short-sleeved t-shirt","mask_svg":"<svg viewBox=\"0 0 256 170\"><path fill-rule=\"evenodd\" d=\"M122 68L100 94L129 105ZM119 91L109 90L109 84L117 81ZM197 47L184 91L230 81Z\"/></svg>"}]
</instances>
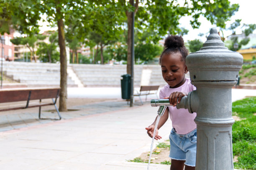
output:
<instances>
[{"instance_id":1,"label":"girl's plain light pink short-sleeved t-shirt","mask_svg":"<svg viewBox=\"0 0 256 170\"><path fill-rule=\"evenodd\" d=\"M160 99L163 99L164 97L169 97L172 92L191 92L193 90L196 90L196 87L191 84L189 78L186 78L186 82L180 87L170 88L169 85L162 87L159 97ZM178 134L184 135L197 128L194 121L197 113L189 113L187 109L177 109L173 106L169 106L168 108L172 120L172 127Z\"/></svg>"}]
</instances>

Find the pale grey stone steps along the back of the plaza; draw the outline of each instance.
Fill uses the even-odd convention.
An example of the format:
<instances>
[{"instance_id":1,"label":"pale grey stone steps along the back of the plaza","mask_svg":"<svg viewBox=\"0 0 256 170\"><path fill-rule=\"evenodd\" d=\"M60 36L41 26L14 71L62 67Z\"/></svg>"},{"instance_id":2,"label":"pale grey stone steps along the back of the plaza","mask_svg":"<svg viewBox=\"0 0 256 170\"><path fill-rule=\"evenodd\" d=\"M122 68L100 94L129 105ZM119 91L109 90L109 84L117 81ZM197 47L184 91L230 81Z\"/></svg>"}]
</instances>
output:
<instances>
[{"instance_id":1,"label":"pale grey stone steps along the back of the plaza","mask_svg":"<svg viewBox=\"0 0 256 170\"><path fill-rule=\"evenodd\" d=\"M27 87L60 86L60 64L4 61L3 72ZM120 87L126 65L69 64L67 73L68 87ZM141 85L166 85L161 67L134 65L134 87Z\"/></svg>"}]
</instances>

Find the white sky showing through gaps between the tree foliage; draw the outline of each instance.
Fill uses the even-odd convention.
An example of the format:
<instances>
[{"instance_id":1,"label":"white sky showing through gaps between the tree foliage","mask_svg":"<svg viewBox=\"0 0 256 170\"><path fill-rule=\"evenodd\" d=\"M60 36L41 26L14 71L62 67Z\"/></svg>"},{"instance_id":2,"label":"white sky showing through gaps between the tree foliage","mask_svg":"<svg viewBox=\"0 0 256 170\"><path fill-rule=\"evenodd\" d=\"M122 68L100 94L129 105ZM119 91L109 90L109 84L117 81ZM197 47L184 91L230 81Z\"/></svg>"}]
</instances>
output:
<instances>
[{"instance_id":1,"label":"white sky showing through gaps between the tree foliage","mask_svg":"<svg viewBox=\"0 0 256 170\"><path fill-rule=\"evenodd\" d=\"M236 19L242 19L241 25L243 24L256 24L256 14L255 14L255 6L256 6L256 0L229 0L231 4L238 3L240 5L238 12L235 13L231 17L230 21L227 21L227 27L230 26L231 23L233 23ZM185 16L182 17L180 20L180 27L184 27L187 30L189 30L187 35L184 35L184 41L187 42L188 40L195 40L200 39L202 42L206 41L206 36L209 35L210 28L216 27L215 25L211 25L209 21L207 21L204 17L200 17L199 21L202 23L200 25L200 28L193 29L191 25L189 24L189 21L191 20L191 17ZM40 27L40 33L43 33L46 30L56 30L56 28L49 28L46 25L47 24L41 24L44 25L43 27ZM204 33L205 36L200 37L198 36L199 33ZM224 37L227 37L228 35L231 35L232 31L230 30L224 30ZM236 31L237 34L241 33L241 30ZM254 31L253 33L256 33Z\"/></svg>"}]
</instances>

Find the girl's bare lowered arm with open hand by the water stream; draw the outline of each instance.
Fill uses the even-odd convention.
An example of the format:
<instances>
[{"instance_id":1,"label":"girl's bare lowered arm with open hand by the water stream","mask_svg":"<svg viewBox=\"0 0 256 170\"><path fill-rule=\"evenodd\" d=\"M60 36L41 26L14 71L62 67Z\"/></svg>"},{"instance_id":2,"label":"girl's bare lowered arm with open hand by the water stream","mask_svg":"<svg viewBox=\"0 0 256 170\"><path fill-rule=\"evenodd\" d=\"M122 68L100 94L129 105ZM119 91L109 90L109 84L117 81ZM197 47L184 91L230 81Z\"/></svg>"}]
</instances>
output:
<instances>
[{"instance_id":1,"label":"girl's bare lowered arm with open hand by the water stream","mask_svg":"<svg viewBox=\"0 0 256 170\"><path fill-rule=\"evenodd\" d=\"M158 135L158 130L164 125L164 123L168 120L168 117L169 117L169 109L168 107L166 108L165 112L164 112L164 115L162 115L160 117L160 120L159 120L159 123L158 123L158 126L157 126L157 129L156 129L156 135L155 135L155 139L156 140L159 140L161 139L162 137ZM157 119L157 117L156 117ZM152 123L152 125L148 126L148 128L146 128L147 130L147 133L148 133L148 136L153 138L153 133L154 133L154 128L155 128L155 125L156 125L156 119L155 121Z\"/></svg>"}]
</instances>

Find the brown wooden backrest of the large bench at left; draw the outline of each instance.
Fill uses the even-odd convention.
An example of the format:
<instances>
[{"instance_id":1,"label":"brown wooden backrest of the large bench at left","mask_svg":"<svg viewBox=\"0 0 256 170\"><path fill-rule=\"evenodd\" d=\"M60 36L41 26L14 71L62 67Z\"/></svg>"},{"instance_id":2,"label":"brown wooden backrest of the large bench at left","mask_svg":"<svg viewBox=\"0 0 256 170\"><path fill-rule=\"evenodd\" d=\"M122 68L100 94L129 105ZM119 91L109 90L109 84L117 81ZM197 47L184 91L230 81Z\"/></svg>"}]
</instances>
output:
<instances>
[{"instance_id":1,"label":"brown wooden backrest of the large bench at left","mask_svg":"<svg viewBox=\"0 0 256 170\"><path fill-rule=\"evenodd\" d=\"M60 88L19 88L19 89L1 89L0 103L18 102L29 100L49 99L59 97Z\"/></svg>"}]
</instances>

